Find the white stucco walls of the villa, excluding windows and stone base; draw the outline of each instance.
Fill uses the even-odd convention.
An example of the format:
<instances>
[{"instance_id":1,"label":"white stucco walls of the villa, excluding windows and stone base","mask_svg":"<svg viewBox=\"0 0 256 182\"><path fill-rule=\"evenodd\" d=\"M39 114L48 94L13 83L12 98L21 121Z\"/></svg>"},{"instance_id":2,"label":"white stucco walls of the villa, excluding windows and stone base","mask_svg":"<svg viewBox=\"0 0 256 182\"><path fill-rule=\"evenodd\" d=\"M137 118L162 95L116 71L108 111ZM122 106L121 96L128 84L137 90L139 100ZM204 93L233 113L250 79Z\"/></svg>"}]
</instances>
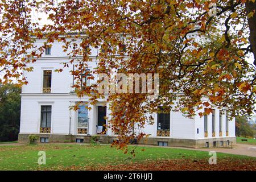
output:
<instances>
[{"instance_id":1,"label":"white stucco walls of the villa, excluding windows and stone base","mask_svg":"<svg viewBox=\"0 0 256 182\"><path fill-rule=\"evenodd\" d=\"M43 40L39 40L38 46L43 44ZM63 61L68 61L67 55L60 51L63 46L61 43L54 43L51 49L51 55L44 55L42 59L38 59L36 63L28 64L28 67L33 66L33 72L24 72L27 77L28 85L22 88L22 105L20 116L20 133L31 134L39 133L40 129L40 106L52 105L52 134L69 134L69 121L71 118L70 132L73 135L77 134L77 111L70 111L69 106L76 104L77 101L88 101L88 98L79 99L75 94L71 93L73 78L69 71L73 69L72 65L69 68L64 68L63 72L54 72L55 69L63 68ZM95 57L96 50L92 53L93 61L89 63L89 68L96 67ZM52 70L52 87L51 93L42 93L43 88L43 71ZM90 82L95 82L90 80ZM89 134L96 134L97 125L97 106L105 105L104 100L98 104L91 106L89 111ZM107 105L107 115L109 116L109 104ZM218 114L216 109L216 137L218 134ZM149 115L149 114L148 114ZM151 134L151 137L156 137L157 131L157 114L152 114L154 117L153 125L146 125L144 132ZM197 134L199 129L199 134ZM225 115L222 116L222 137L225 137ZM113 135L112 131L108 131L108 135ZM180 139L205 139L204 137L204 118L196 115L195 118L189 119L183 117L181 113L170 113L170 137ZM235 122L234 119L229 121L229 137L235 137ZM212 114L208 116L208 138L212 138Z\"/></svg>"}]
</instances>

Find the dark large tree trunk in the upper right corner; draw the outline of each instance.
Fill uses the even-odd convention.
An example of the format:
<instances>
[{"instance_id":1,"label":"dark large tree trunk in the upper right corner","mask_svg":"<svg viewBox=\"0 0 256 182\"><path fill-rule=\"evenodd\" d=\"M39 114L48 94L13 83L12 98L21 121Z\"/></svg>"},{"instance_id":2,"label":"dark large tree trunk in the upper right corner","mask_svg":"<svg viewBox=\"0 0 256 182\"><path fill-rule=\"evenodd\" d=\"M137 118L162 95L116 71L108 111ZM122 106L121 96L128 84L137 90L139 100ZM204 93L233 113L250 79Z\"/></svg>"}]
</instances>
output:
<instances>
[{"instance_id":1,"label":"dark large tree trunk in the upper right corner","mask_svg":"<svg viewBox=\"0 0 256 182\"><path fill-rule=\"evenodd\" d=\"M256 11L256 2L252 2L247 0L246 2L246 12L249 14L251 11ZM251 50L253 51L254 55L254 62L253 64L256 66L256 13L253 17L248 19L249 27L250 27L250 44Z\"/></svg>"}]
</instances>

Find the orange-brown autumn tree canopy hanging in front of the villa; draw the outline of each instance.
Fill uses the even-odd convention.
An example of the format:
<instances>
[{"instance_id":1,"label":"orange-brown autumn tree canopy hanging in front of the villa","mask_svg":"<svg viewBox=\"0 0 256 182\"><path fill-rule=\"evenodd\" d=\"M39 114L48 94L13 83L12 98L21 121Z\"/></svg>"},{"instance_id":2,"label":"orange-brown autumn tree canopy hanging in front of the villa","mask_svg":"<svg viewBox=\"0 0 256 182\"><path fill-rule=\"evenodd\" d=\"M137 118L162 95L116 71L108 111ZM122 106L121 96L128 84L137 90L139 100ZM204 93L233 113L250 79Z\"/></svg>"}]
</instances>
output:
<instances>
[{"instance_id":1,"label":"orange-brown autumn tree canopy hanging in front of the villa","mask_svg":"<svg viewBox=\"0 0 256 182\"><path fill-rule=\"evenodd\" d=\"M13 77L27 84L20 78L21 70L32 71L27 64L44 51L44 46L34 46L35 38L46 38L45 46L64 43L63 51L70 56L64 67L79 63L77 71L71 71L75 78L92 60L92 48L98 49L93 73L110 75L121 68L125 74L159 74L159 97L154 101L148 94L109 95L109 123L119 133L114 144L120 147L146 135L143 130L134 134L134 127L152 123L144 113L156 112L158 106L180 110L187 117L209 114L213 107L226 108L231 117L255 110L256 62L246 61L256 55L254 0L18 0L2 1L0 11L4 84ZM32 12L39 11L50 23L32 21ZM29 52L31 48L34 51ZM87 95L94 104L104 97L97 84L79 89L77 82L74 87L79 97Z\"/></svg>"}]
</instances>

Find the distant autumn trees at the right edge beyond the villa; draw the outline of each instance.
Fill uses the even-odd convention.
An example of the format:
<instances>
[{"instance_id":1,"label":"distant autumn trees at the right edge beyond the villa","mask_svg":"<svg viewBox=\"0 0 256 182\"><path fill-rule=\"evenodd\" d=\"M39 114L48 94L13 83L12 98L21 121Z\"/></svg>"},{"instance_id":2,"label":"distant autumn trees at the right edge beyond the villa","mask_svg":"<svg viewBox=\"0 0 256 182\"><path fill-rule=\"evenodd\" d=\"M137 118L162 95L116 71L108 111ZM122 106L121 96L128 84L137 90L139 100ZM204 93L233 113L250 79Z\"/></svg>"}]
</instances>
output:
<instances>
[{"instance_id":1,"label":"distant autumn trees at the right edge beyond the villa","mask_svg":"<svg viewBox=\"0 0 256 182\"><path fill-rule=\"evenodd\" d=\"M255 129L249 125L247 119L243 117L236 118L236 136L237 137L254 137Z\"/></svg>"}]
</instances>

